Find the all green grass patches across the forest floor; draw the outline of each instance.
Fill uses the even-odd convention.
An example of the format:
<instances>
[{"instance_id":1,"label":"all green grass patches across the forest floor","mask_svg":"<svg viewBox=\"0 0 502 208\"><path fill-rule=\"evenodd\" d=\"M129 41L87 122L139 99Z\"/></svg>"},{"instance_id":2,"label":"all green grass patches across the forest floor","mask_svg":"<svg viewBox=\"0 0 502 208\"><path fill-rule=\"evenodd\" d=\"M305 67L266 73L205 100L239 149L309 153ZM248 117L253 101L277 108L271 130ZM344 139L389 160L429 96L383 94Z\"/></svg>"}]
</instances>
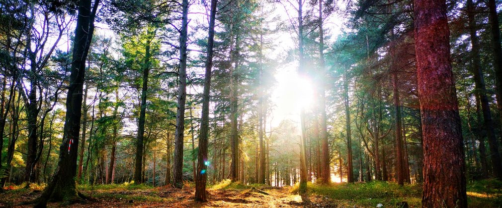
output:
<instances>
[{"instance_id":1,"label":"all green grass patches across the forest floor","mask_svg":"<svg viewBox=\"0 0 502 208\"><path fill-rule=\"evenodd\" d=\"M192 183L186 183L193 186ZM34 190L42 190L44 184L26 183L19 185L8 185L7 191L0 194L0 198L6 201L16 201L19 195L29 195ZM229 179L208 186L209 190L238 190L243 191L256 187L267 188L263 184L242 184L231 182ZM162 191L158 188L146 184L120 183L120 184L98 184L78 185L79 190L86 195L95 198L113 199L114 201L150 201L150 202L172 202L176 199L172 196L163 197ZM299 184L291 188L292 193L297 193ZM375 207L382 203L384 207L398 207L402 201L406 201L410 207L420 207L422 200L421 184L406 184L400 186L395 182L372 181L368 183L332 183L321 185L308 183L307 193L316 197L326 197L332 199L340 207ZM502 207L502 181L495 179L485 179L472 181L467 184L467 201L469 207ZM5 205L5 204L4 204Z\"/></svg>"}]
</instances>

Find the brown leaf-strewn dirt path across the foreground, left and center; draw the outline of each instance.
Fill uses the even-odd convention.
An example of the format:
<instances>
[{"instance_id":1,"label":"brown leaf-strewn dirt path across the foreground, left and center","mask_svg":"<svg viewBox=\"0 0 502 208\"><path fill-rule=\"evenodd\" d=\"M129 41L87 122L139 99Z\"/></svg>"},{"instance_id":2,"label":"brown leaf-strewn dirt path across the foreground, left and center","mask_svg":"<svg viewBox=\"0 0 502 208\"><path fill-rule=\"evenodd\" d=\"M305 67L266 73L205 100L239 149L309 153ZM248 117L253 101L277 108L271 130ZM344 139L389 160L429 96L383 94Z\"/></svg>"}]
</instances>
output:
<instances>
[{"instance_id":1,"label":"brown leaf-strewn dirt path across the foreground, left and center","mask_svg":"<svg viewBox=\"0 0 502 208\"><path fill-rule=\"evenodd\" d=\"M289 188L269 187L263 189L269 195L250 189L208 190L208 202L195 202L194 188L157 187L152 189L107 189L84 190L84 194L94 200L84 204L72 204L71 207L335 207L330 201L309 199L304 202L300 195L291 194ZM17 205L28 201L40 193L17 192L14 196L0 194L0 207L31 207L32 205ZM312 197L310 197L312 198ZM317 200L317 202L316 202ZM50 202L48 207L58 207L59 203Z\"/></svg>"}]
</instances>

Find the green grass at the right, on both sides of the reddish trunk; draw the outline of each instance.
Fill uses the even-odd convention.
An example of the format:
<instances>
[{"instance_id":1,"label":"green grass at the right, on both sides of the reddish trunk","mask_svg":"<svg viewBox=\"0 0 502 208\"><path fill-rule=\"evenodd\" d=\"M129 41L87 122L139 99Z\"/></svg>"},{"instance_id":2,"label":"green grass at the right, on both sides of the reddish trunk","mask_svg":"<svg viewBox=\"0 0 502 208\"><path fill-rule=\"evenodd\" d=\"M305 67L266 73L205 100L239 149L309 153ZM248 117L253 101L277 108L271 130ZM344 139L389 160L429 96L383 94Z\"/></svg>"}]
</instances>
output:
<instances>
[{"instance_id":1,"label":"green grass at the right, on both sides of the reddish trunk","mask_svg":"<svg viewBox=\"0 0 502 208\"><path fill-rule=\"evenodd\" d=\"M497 180L474 181L467 185L469 207L501 207L502 182ZM298 191L298 185L292 192ZM372 181L368 183L333 183L330 185L308 184L309 193L334 199L341 206L398 207L406 201L410 207L420 207L422 201L421 184L400 186L394 182Z\"/></svg>"}]
</instances>

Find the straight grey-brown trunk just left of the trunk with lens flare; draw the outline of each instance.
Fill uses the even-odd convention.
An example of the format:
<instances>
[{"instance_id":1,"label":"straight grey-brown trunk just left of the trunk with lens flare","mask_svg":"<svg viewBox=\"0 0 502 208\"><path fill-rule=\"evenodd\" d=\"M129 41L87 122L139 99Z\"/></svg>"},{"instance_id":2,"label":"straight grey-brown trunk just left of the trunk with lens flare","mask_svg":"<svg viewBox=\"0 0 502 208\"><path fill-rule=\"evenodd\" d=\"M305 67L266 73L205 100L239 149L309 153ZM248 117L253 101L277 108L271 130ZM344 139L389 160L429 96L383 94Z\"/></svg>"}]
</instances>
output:
<instances>
[{"instance_id":1,"label":"straight grey-brown trunk just left of the trunk with lens flare","mask_svg":"<svg viewBox=\"0 0 502 208\"><path fill-rule=\"evenodd\" d=\"M183 186L183 140L185 132L185 102L187 95L187 30L188 0L182 1L182 25L180 34L180 68L178 71L178 109L176 111L176 132L174 133L173 185Z\"/></svg>"}]
</instances>

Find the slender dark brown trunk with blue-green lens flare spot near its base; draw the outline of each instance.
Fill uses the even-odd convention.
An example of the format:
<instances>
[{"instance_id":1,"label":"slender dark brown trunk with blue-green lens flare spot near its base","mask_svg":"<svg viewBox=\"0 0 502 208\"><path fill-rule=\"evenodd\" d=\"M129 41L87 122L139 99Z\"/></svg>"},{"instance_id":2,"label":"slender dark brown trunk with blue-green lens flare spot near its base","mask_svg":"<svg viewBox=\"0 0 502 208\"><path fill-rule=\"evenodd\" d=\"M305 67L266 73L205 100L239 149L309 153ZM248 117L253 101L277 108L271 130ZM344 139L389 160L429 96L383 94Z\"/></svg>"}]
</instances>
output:
<instances>
[{"instance_id":1,"label":"slender dark brown trunk with blue-green lens flare spot near its base","mask_svg":"<svg viewBox=\"0 0 502 208\"><path fill-rule=\"evenodd\" d=\"M209 131L209 87L211 86L211 68L213 65L214 21L216 18L216 2L211 0L209 32L207 37L207 60L204 74L204 90L202 94L202 118L200 123L199 153L197 156L197 180L195 181L195 200L207 201L207 137Z\"/></svg>"}]
</instances>

